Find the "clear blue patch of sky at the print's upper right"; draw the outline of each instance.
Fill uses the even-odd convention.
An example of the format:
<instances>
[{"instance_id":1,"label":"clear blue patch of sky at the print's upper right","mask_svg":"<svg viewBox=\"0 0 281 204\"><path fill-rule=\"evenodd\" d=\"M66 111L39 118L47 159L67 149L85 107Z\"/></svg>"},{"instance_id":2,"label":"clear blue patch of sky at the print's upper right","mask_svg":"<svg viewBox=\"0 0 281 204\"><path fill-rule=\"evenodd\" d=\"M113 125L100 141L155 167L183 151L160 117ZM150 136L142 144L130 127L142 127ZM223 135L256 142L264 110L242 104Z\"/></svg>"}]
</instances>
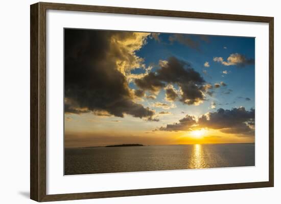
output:
<instances>
[{"instance_id":1,"label":"clear blue patch of sky at the print's upper right","mask_svg":"<svg viewBox=\"0 0 281 204\"><path fill-rule=\"evenodd\" d=\"M199 107L186 107L176 102L178 107L186 111L197 109L196 112L199 114L208 111L209 104L212 101L215 101L217 104L215 109L220 107L231 109L235 106L244 106L246 109L254 108L254 64L225 66L213 61L214 57L223 57L226 60L232 53L240 53L247 56L247 58L254 59L254 38L206 36L206 42L200 40L199 35L191 35L192 39L199 42L200 50L196 50L180 42L171 43L169 37L173 35L160 34L160 42L153 38L148 38L147 44L136 51L136 55L145 59L146 65L157 65L159 60L167 60L170 56L175 56L180 60L189 62L197 72L201 73L208 83L214 84L223 81L227 84L226 87L216 90L214 97L210 97L209 103L205 102L200 105L200 110ZM205 62L208 62L209 67L204 67ZM154 68L155 70L157 70L157 66ZM227 74L224 74L223 71L227 71ZM144 73L144 70L135 69L132 73ZM136 88L133 83L130 83L130 87L132 89ZM223 94L228 92L228 90L232 90L232 92L230 91L230 94ZM160 100L164 99L165 92L161 91L157 98ZM249 98L250 101L245 100L245 98Z\"/></svg>"}]
</instances>

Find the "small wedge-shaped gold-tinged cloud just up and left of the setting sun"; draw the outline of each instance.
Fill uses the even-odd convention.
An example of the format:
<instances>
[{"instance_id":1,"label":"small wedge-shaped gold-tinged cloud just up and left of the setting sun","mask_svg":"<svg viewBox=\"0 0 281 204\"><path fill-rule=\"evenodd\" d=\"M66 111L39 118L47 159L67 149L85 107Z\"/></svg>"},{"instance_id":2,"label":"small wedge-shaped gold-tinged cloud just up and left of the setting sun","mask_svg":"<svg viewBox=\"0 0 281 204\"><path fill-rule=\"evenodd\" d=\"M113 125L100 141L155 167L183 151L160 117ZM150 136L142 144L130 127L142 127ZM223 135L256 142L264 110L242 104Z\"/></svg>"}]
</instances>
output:
<instances>
[{"instance_id":1,"label":"small wedge-shaped gold-tinged cloud just up and left of the setting sun","mask_svg":"<svg viewBox=\"0 0 281 204\"><path fill-rule=\"evenodd\" d=\"M195 117L192 115L185 115L178 123L168 124L166 127L160 127L161 131L188 131L193 125L196 124Z\"/></svg>"}]
</instances>

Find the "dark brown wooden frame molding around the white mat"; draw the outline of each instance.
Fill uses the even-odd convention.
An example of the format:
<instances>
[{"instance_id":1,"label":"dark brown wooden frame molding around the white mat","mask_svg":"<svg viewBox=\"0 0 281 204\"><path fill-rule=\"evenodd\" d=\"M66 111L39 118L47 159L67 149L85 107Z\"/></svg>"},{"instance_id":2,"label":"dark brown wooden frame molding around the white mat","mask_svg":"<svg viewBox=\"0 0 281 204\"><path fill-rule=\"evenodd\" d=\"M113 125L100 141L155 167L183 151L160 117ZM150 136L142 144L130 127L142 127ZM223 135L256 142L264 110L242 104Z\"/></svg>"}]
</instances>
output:
<instances>
[{"instance_id":1,"label":"dark brown wooden frame molding around the white mat","mask_svg":"<svg viewBox=\"0 0 281 204\"><path fill-rule=\"evenodd\" d=\"M269 23L269 181L168 187L153 189L119 190L46 195L46 10L84 11L115 14L136 14L233 21ZM36 201L74 200L88 198L186 193L229 189L273 187L274 184L274 141L273 141L273 17L245 16L185 11L135 9L121 7L87 6L56 3L36 3L30 7L30 198Z\"/></svg>"}]
</instances>

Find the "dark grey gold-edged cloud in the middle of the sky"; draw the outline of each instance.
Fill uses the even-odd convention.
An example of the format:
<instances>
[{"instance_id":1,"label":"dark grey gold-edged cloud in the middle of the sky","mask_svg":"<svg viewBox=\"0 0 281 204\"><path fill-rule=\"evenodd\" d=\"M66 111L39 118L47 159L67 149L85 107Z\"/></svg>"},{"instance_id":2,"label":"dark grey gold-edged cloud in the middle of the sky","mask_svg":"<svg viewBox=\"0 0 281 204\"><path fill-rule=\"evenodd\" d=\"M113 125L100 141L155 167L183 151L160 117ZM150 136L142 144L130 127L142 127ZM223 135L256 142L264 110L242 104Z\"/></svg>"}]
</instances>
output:
<instances>
[{"instance_id":1,"label":"dark grey gold-edged cloud in the middle of the sky","mask_svg":"<svg viewBox=\"0 0 281 204\"><path fill-rule=\"evenodd\" d=\"M170 57L168 61L160 62L159 66L157 73L150 72L143 78L135 79L135 84L140 89L151 92L158 92L167 83L177 84L181 90L179 100L189 105L198 104L205 99L203 91L206 89L202 89L205 80L189 63ZM176 97L174 93L173 96Z\"/></svg>"}]
</instances>

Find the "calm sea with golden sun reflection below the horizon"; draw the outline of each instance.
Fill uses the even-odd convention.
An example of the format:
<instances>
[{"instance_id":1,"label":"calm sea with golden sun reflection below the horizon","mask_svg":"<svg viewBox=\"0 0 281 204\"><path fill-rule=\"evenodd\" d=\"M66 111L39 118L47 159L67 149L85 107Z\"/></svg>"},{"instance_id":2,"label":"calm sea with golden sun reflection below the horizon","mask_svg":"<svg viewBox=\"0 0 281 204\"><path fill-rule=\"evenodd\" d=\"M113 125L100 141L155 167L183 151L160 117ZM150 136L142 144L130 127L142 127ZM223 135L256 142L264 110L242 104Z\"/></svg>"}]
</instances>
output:
<instances>
[{"instance_id":1,"label":"calm sea with golden sun reflection below the horizon","mask_svg":"<svg viewBox=\"0 0 281 204\"><path fill-rule=\"evenodd\" d=\"M66 148L65 175L254 166L254 143Z\"/></svg>"}]
</instances>

